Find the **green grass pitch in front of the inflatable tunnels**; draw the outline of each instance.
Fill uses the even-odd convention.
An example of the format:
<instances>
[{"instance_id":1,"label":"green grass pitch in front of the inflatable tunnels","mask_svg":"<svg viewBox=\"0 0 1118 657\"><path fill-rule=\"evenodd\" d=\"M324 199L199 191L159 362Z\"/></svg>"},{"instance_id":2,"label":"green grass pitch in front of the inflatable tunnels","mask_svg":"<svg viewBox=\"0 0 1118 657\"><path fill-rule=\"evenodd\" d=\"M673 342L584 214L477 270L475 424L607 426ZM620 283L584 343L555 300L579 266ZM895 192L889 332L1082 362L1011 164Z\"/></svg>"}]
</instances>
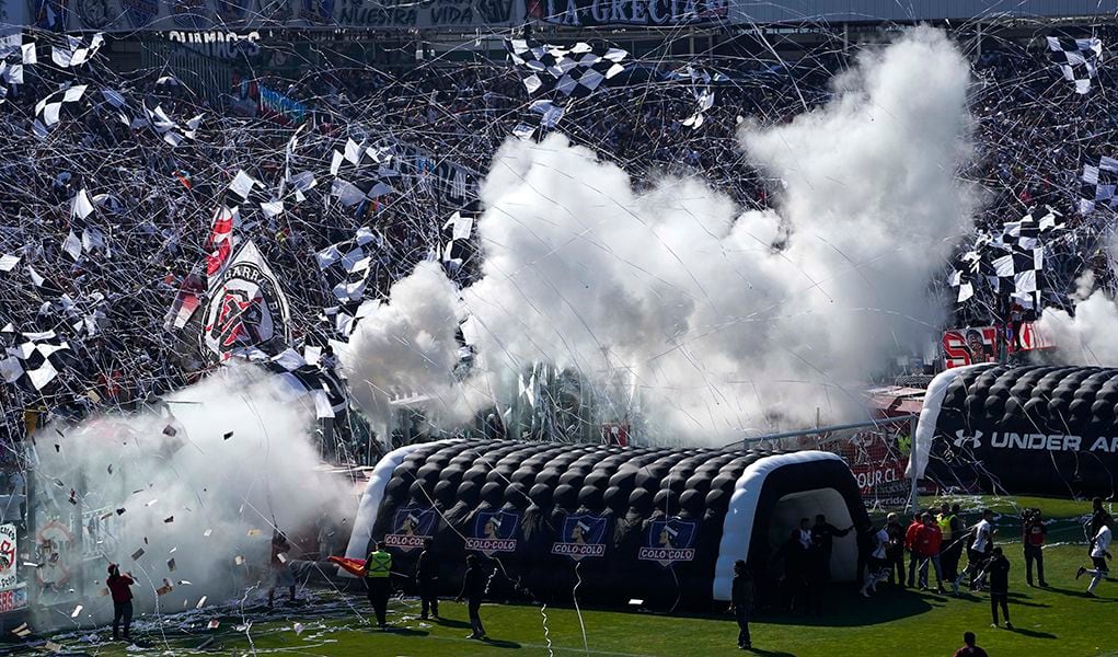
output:
<instances>
[{"instance_id":1,"label":"green grass pitch in front of the inflatable tunnels","mask_svg":"<svg viewBox=\"0 0 1118 657\"><path fill-rule=\"evenodd\" d=\"M1024 505L1055 508L1051 501L1029 501ZM1089 506L1089 505L1088 505ZM1070 539L1074 516L1086 512L1080 503L1067 503L1062 513L1071 516L1057 523L1065 525ZM999 510L1008 512L1010 510ZM1057 512L1050 516L1061 515ZM1005 518L1011 525L1011 518ZM1011 525L1012 526L1012 525ZM1003 526L1003 541L1015 536ZM1061 530L1063 531L1063 530ZM752 625L752 654L797 657L846 655L900 655L903 657L950 656L961 645L966 630L978 635L978 642L992 657L1007 655L1118 656L1118 635L1110 622L1118 612L1118 581L1100 584L1096 599L1083 596L1087 581L1076 581L1076 568L1084 564L1082 544L1062 544L1045 549L1050 589L1025 587L1021 546L1002 543L1013 563L1011 572L1011 613L1014 630L989 627L989 603L984 593L961 598L896 590L882 591L865 600L849 587L834 587L827 594L822 617L764 615ZM965 560L964 560L965 561ZM641 612L607 612L569 608L542 610L529 606L486 604L482 617L492 639L489 642L465 638L468 627L462 604L444 602L443 622L419 621L414 600L394 601L389 632L372 630L369 608L362 598L328 597L322 603L277 609L247 610L245 616L220 618L217 630L205 629L210 617L195 617L192 627L169 617L163 632L148 629L144 639L152 655L192 654L273 654L314 656L424 656L424 655L614 655L690 656L741 655L737 650L737 627L724 617L666 617ZM245 629L246 619L256 618ZM300 632L296 632L300 623ZM238 627L240 628L238 630ZM101 632L103 637L105 632ZM89 655L135 655L120 644L91 641L92 635L56 637L67 650ZM212 639L206 651L198 647Z\"/></svg>"}]
</instances>

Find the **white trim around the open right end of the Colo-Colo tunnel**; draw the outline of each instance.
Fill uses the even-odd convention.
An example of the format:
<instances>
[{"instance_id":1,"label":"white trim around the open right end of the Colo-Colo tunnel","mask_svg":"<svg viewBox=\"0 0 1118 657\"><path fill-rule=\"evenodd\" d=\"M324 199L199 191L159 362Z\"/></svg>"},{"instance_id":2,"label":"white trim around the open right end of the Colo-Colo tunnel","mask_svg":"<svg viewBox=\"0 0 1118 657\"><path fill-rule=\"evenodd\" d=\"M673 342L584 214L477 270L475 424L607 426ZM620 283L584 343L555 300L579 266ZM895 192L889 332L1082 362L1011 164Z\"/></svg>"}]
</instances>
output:
<instances>
[{"instance_id":1,"label":"white trim around the open right end of the Colo-Colo tunnel","mask_svg":"<svg viewBox=\"0 0 1118 657\"><path fill-rule=\"evenodd\" d=\"M784 466L825 459L842 461L837 454L805 450L761 458L741 473L733 486L730 507L722 521L722 540L718 546L718 562L714 564L716 600L730 599L733 562L749 559L749 541L752 537L754 518L757 516L757 498L765 487L765 479ZM761 540L767 541L768 536L762 536Z\"/></svg>"}]
</instances>

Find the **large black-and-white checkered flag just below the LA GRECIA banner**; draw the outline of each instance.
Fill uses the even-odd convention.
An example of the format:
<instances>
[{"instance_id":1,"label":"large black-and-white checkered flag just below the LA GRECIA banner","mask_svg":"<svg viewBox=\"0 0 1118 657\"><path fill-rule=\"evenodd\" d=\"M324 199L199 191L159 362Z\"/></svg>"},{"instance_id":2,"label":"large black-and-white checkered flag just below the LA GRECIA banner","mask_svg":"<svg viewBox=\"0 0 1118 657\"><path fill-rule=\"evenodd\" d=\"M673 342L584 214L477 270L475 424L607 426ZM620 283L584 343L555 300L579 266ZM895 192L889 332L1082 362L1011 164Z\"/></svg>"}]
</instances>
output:
<instances>
[{"instance_id":1,"label":"large black-and-white checkered flag just below the LA GRECIA banner","mask_svg":"<svg viewBox=\"0 0 1118 657\"><path fill-rule=\"evenodd\" d=\"M609 48L595 53L579 41L570 48L525 39L504 42L509 57L523 75L529 95L558 92L565 97L584 98L625 70L628 51Z\"/></svg>"}]
</instances>

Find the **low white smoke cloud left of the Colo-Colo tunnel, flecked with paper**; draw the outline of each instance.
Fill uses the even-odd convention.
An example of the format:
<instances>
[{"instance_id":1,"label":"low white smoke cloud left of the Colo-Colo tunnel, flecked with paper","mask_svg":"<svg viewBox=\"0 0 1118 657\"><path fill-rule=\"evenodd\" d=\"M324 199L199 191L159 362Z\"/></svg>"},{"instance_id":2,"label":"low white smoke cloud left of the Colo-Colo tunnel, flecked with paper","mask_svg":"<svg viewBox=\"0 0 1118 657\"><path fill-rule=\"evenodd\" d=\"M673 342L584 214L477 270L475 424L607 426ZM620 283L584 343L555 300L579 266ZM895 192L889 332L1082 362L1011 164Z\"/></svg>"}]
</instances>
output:
<instances>
[{"instance_id":1,"label":"low white smoke cloud left of the Colo-Colo tunnel, flecked with paper","mask_svg":"<svg viewBox=\"0 0 1118 657\"><path fill-rule=\"evenodd\" d=\"M57 427L58 438L54 426L40 434L40 529L51 517L66 524L72 489L86 515L88 580L60 587L61 598L69 588L85 590L78 621L111 618L110 598L97 596L110 562L135 577L138 615L157 606L163 613L193 609L203 596L208 604L224 602L262 577L266 588L274 526L292 540L314 536L323 513L340 522L352 511L348 486L315 470L313 409L284 399L255 369L227 371L167 399L173 419L150 410ZM45 578L64 574L48 555L36 558L47 564ZM60 565L70 569L75 560L64 550ZM158 597L164 578L174 590ZM44 621L56 625L57 615Z\"/></svg>"}]
</instances>

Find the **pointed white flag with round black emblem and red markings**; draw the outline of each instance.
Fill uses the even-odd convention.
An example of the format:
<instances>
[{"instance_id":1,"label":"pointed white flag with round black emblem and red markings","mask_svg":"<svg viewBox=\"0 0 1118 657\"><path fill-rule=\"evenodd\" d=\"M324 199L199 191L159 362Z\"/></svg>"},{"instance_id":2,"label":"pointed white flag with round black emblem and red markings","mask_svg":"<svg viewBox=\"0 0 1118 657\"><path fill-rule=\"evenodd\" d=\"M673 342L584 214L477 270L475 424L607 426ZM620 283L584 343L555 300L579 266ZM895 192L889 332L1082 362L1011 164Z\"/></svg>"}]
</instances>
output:
<instances>
[{"instance_id":1,"label":"pointed white flag with round black emblem and red markings","mask_svg":"<svg viewBox=\"0 0 1118 657\"><path fill-rule=\"evenodd\" d=\"M282 337L290 342L287 297L280 279L252 241L219 276L210 279L206 347L227 360L240 350Z\"/></svg>"}]
</instances>

